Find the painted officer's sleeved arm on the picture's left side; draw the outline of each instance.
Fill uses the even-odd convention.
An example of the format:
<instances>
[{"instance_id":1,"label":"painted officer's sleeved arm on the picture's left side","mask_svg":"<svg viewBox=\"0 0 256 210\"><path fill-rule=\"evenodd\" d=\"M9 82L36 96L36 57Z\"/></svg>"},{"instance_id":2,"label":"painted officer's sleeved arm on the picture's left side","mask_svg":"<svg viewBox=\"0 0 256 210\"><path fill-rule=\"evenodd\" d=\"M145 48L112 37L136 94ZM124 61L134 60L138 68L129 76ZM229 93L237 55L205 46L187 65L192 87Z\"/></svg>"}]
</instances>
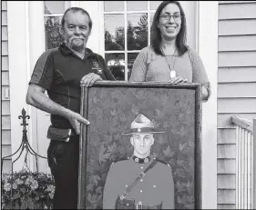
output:
<instances>
[{"instance_id":1,"label":"painted officer's sleeved arm on the picture's left side","mask_svg":"<svg viewBox=\"0 0 256 210\"><path fill-rule=\"evenodd\" d=\"M115 209L118 198L118 169L115 164L110 165L103 191L103 209Z\"/></svg>"}]
</instances>

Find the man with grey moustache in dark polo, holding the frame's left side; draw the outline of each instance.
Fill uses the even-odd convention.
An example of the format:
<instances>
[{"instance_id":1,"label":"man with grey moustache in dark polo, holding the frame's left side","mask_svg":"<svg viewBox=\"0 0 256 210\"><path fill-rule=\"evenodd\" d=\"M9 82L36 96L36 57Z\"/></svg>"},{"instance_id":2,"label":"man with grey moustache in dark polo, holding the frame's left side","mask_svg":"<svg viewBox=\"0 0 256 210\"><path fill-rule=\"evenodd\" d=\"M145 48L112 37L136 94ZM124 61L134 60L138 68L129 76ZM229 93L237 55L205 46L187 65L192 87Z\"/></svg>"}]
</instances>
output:
<instances>
[{"instance_id":1,"label":"man with grey moustache in dark polo, holding the frame's left side","mask_svg":"<svg viewBox=\"0 0 256 210\"><path fill-rule=\"evenodd\" d=\"M80 124L89 125L79 115L80 85L115 80L104 58L86 47L91 30L86 10L68 8L61 22L65 43L39 57L26 95L27 104L51 114L47 158L56 182L54 208L77 208Z\"/></svg>"}]
</instances>

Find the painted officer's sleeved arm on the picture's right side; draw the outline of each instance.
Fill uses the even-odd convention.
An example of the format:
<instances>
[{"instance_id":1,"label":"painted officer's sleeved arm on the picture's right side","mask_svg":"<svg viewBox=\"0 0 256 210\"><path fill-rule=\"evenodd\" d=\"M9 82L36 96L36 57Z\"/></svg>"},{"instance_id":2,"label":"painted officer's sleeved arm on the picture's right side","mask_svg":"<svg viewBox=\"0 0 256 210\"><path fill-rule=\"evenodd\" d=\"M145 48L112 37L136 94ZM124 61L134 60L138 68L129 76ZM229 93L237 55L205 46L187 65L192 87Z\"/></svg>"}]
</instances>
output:
<instances>
[{"instance_id":1,"label":"painted officer's sleeved arm on the picture's right side","mask_svg":"<svg viewBox=\"0 0 256 210\"><path fill-rule=\"evenodd\" d=\"M174 182L170 166L166 167L162 209L175 209Z\"/></svg>"}]
</instances>

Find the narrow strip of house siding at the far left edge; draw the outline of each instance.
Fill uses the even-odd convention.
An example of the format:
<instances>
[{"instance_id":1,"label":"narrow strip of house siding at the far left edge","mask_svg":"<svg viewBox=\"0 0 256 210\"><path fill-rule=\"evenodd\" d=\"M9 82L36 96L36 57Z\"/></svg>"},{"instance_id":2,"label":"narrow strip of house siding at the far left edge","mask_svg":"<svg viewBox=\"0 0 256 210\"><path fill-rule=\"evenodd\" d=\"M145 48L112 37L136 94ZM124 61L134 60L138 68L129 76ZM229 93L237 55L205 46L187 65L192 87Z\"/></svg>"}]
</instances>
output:
<instances>
[{"instance_id":1,"label":"narrow strip of house siding at the far left edge","mask_svg":"<svg viewBox=\"0 0 256 210\"><path fill-rule=\"evenodd\" d=\"M2 157L11 155L11 117L10 117L10 99L9 99L9 65L8 65L8 35L7 35L7 3L2 1ZM3 173L11 169L11 158L3 163Z\"/></svg>"}]
</instances>

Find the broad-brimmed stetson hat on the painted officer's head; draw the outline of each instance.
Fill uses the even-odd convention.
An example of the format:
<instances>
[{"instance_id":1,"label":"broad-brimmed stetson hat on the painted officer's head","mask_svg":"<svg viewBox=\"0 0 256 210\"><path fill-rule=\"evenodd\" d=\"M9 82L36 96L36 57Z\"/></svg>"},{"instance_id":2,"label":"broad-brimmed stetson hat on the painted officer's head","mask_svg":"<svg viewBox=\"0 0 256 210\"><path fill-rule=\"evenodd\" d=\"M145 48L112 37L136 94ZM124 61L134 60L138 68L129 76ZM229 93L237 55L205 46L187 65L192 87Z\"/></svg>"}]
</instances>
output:
<instances>
[{"instance_id":1,"label":"broad-brimmed stetson hat on the painted officer's head","mask_svg":"<svg viewBox=\"0 0 256 210\"><path fill-rule=\"evenodd\" d=\"M138 133L164 133L155 128L153 122L148 119L147 116L138 114L134 121L130 125L130 131L123 133L122 135L132 135Z\"/></svg>"}]
</instances>

